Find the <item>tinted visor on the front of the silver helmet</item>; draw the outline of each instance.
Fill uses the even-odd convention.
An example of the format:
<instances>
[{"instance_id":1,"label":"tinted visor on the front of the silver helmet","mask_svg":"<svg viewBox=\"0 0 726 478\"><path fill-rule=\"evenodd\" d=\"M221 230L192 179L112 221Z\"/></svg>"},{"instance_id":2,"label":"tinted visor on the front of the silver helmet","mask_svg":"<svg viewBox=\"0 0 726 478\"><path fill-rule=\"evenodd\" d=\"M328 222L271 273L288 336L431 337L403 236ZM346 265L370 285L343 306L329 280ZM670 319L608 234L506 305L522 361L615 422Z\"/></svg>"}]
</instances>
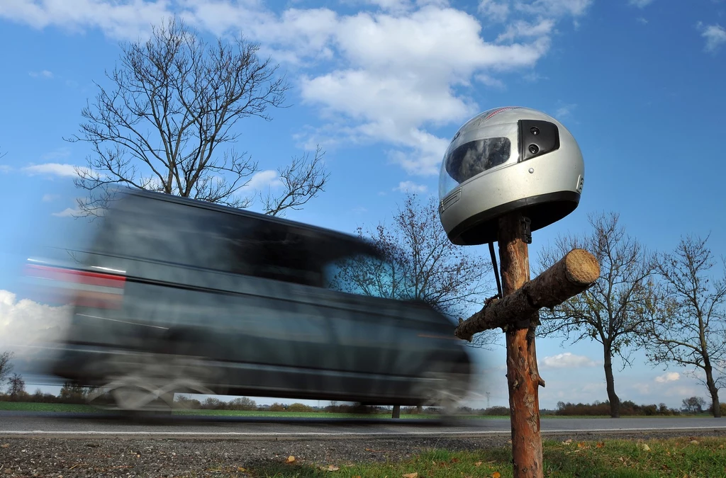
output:
<instances>
[{"instance_id":1,"label":"tinted visor on the front of the silver helmet","mask_svg":"<svg viewBox=\"0 0 726 478\"><path fill-rule=\"evenodd\" d=\"M518 125L507 123L475 128L452 141L441 162L439 199L470 178L519 157Z\"/></svg>"}]
</instances>

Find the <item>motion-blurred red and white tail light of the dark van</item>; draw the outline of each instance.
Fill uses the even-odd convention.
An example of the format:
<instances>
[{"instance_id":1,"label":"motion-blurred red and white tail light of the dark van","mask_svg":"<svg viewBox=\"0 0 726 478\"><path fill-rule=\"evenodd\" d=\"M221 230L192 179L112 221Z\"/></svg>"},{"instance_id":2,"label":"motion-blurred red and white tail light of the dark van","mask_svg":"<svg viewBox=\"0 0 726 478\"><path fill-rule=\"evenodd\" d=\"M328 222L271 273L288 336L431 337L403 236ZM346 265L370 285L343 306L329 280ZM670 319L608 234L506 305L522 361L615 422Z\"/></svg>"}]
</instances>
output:
<instances>
[{"instance_id":1,"label":"motion-blurred red and white tail light of the dark van","mask_svg":"<svg viewBox=\"0 0 726 478\"><path fill-rule=\"evenodd\" d=\"M119 309L126 276L30 264L25 275L40 287L44 302Z\"/></svg>"}]
</instances>

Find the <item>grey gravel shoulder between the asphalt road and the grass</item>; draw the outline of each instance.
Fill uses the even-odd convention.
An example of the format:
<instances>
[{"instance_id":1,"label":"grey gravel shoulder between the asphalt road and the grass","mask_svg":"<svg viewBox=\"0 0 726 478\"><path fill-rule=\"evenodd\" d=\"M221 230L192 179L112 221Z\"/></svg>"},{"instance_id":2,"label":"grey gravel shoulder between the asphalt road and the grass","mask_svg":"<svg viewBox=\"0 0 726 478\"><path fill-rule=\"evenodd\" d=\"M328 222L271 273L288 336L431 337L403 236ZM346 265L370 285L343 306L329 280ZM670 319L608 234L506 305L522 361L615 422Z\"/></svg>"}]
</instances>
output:
<instances>
[{"instance_id":1,"label":"grey gravel shoulder between the asphalt road and the grass","mask_svg":"<svg viewBox=\"0 0 726 478\"><path fill-rule=\"evenodd\" d=\"M0 432L1 433L1 432ZM544 440L726 437L726 432L543 434ZM269 461L295 456L298 463L346 464L398 461L431 448L480 450L508 447L509 437L399 437L355 439L216 440L135 438L0 438L0 478L4 477L250 477Z\"/></svg>"}]
</instances>

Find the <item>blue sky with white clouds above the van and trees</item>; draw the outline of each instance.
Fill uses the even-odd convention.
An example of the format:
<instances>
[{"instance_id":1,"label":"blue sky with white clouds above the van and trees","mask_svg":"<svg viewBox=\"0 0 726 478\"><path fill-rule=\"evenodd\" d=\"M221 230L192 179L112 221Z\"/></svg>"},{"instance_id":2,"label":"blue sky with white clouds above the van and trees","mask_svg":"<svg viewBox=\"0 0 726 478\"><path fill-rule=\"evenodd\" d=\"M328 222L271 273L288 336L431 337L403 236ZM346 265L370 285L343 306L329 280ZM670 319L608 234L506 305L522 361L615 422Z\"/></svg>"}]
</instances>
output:
<instances>
[{"instance_id":1,"label":"blue sky with white clouds above the van and trees","mask_svg":"<svg viewBox=\"0 0 726 478\"><path fill-rule=\"evenodd\" d=\"M586 169L575 213L533 234L533 262L597 211L620 213L653 250L711 234L726 255L724 0L11 0L0 4L0 345L52 320L22 301L25 257L82 226L70 218L72 167L89 149L63 138L78 131L118 42L172 14L205 35L242 31L287 74L291 107L240 123L240 147L263 170L325 148L327 191L290 218L346 232L386 221L402 191L436 194L460 125L519 105L564 123ZM542 339L537 353L543 407L607 397L599 344ZM706 397L681 369L638 357L616 372L621 399ZM479 390L504 405L503 347L481 358Z\"/></svg>"}]
</instances>

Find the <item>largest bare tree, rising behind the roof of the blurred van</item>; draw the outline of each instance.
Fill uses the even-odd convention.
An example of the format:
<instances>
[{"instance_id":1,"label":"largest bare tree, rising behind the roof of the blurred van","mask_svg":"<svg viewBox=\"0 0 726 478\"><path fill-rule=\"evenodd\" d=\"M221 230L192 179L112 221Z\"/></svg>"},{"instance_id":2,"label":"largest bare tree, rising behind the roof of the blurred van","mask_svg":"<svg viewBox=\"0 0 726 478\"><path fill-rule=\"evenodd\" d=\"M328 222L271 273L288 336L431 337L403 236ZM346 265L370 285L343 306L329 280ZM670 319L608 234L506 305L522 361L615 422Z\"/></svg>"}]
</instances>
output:
<instances>
[{"instance_id":1,"label":"largest bare tree, rising behind the roof of the blurred van","mask_svg":"<svg viewBox=\"0 0 726 478\"><path fill-rule=\"evenodd\" d=\"M112 186L161 191L232 207L249 207L243 194L258 164L232 147L242 118L271 120L283 107L287 83L279 65L257 56L258 44L239 36L208 45L176 18L153 28L150 40L123 44L120 65L97 83L93 104L83 108L80 134L68 141L91 144L75 184L81 215L102 214L115 197ZM228 147L227 147L228 146ZM284 188L268 194L271 215L305 204L323 190L322 151L295 158L280 169Z\"/></svg>"}]
</instances>

